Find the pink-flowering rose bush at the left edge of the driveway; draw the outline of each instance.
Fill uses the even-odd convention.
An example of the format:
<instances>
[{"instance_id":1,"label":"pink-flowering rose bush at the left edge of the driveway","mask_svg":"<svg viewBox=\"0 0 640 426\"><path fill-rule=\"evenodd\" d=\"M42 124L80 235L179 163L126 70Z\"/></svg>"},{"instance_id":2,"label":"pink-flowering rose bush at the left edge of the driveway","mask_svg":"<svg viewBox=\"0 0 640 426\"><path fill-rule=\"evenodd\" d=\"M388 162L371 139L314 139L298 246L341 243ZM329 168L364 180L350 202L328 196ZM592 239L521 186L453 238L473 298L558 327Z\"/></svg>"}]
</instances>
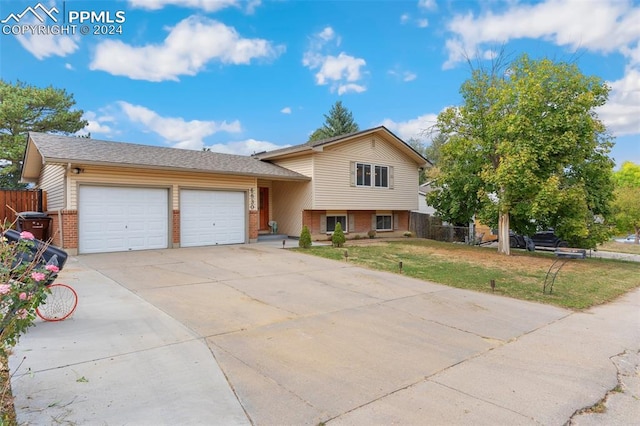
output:
<instances>
[{"instance_id":1,"label":"pink-flowering rose bush at the left edge of the driveway","mask_svg":"<svg viewBox=\"0 0 640 426\"><path fill-rule=\"evenodd\" d=\"M33 325L35 310L48 294L46 283L59 268L42 264L30 232L10 241L2 231L0 228L0 356L7 356Z\"/></svg>"}]
</instances>

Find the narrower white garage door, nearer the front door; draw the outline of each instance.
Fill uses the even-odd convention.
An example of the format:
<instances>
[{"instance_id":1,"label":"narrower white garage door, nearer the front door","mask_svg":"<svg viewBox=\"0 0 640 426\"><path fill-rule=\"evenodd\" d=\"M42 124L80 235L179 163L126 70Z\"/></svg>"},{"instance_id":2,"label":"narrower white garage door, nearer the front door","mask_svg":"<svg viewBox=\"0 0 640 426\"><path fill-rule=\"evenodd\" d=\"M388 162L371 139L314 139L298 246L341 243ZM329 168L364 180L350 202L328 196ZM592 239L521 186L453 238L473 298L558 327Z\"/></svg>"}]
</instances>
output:
<instances>
[{"instance_id":1,"label":"narrower white garage door, nearer the front door","mask_svg":"<svg viewBox=\"0 0 640 426\"><path fill-rule=\"evenodd\" d=\"M245 242L244 192L180 191L180 246Z\"/></svg>"}]
</instances>

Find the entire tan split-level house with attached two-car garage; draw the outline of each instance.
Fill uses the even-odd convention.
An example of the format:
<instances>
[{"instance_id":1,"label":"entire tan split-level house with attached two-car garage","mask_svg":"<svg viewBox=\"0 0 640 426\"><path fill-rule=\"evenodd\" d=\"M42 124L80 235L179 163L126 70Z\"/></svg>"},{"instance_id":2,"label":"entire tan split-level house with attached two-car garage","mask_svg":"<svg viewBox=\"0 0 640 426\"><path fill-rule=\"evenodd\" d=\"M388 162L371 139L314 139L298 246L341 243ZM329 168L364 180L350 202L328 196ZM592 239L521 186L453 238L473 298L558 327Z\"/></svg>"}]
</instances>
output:
<instances>
[{"instance_id":1,"label":"entire tan split-level house with attached two-car garage","mask_svg":"<svg viewBox=\"0 0 640 426\"><path fill-rule=\"evenodd\" d=\"M71 254L408 229L426 160L384 127L253 157L29 133L22 179Z\"/></svg>"}]
</instances>

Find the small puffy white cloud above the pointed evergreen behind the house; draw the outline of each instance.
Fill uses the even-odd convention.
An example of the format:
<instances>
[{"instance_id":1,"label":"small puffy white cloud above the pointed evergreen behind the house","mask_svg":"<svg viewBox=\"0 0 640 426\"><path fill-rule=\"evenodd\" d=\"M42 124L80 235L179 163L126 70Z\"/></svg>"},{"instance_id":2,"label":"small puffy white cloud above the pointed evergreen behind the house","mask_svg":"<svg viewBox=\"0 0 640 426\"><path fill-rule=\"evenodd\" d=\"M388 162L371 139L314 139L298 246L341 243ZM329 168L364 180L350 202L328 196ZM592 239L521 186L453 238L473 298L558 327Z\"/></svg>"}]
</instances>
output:
<instances>
[{"instance_id":1,"label":"small puffy white cloud above the pointed evergreen behind the house","mask_svg":"<svg viewBox=\"0 0 640 426\"><path fill-rule=\"evenodd\" d=\"M324 53L328 50L327 44L339 37L331 27L323 29L312 37L311 47L302 58L302 64L311 70L318 70L315 74L316 84L330 84L331 91L338 94L347 92L363 92L366 87L358 84L363 77L361 68L366 65L362 58L356 58L340 52L337 56Z\"/></svg>"}]
</instances>

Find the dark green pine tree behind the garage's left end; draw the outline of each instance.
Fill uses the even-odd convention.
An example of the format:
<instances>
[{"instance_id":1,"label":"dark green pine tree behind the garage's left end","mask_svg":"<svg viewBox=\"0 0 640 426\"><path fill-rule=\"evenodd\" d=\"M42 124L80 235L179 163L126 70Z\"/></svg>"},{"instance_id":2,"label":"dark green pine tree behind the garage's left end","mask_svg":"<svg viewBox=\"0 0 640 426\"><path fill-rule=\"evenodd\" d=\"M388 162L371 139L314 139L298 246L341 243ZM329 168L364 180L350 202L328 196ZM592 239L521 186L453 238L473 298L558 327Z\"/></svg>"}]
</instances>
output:
<instances>
[{"instance_id":1,"label":"dark green pine tree behind the garage's left end","mask_svg":"<svg viewBox=\"0 0 640 426\"><path fill-rule=\"evenodd\" d=\"M82 110L72 110L73 95L0 80L0 188L19 183L27 132L75 133L87 125Z\"/></svg>"}]
</instances>

